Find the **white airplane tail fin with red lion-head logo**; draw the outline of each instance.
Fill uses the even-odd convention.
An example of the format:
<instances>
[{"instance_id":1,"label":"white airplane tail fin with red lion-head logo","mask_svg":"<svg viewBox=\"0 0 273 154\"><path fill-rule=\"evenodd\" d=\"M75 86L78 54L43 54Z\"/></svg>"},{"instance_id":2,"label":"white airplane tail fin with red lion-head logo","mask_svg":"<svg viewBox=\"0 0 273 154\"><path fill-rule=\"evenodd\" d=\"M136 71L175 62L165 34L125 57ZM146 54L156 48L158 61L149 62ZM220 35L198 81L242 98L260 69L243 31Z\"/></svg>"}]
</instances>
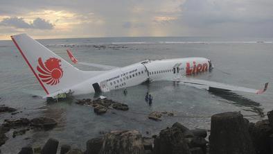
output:
<instances>
[{"instance_id":1,"label":"white airplane tail fin with red lion-head logo","mask_svg":"<svg viewBox=\"0 0 273 154\"><path fill-rule=\"evenodd\" d=\"M72 87L90 76L26 34L11 38L47 95Z\"/></svg>"}]
</instances>

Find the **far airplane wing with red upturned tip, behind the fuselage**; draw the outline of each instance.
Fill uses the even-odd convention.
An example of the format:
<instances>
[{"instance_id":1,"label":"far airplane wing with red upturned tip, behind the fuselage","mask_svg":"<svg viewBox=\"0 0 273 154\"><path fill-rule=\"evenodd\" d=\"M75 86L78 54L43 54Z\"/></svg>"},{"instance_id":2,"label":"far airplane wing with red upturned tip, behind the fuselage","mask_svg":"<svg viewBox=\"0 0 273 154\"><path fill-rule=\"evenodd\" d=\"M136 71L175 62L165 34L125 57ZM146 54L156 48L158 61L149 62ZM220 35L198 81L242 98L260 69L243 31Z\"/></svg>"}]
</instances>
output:
<instances>
[{"instance_id":1,"label":"far airplane wing with red upturned tip, behind the fuselage","mask_svg":"<svg viewBox=\"0 0 273 154\"><path fill-rule=\"evenodd\" d=\"M100 65L100 64L89 63L89 62L78 62L78 60L73 55L73 53L71 52L70 49L67 49L67 54L69 55L70 60L74 64L85 65L85 66L89 66L89 67L97 67L97 68L100 68L100 69L103 69L103 70L109 70L109 69L116 69L116 68L118 68L118 67L114 67L114 66L110 66L110 65Z\"/></svg>"}]
</instances>

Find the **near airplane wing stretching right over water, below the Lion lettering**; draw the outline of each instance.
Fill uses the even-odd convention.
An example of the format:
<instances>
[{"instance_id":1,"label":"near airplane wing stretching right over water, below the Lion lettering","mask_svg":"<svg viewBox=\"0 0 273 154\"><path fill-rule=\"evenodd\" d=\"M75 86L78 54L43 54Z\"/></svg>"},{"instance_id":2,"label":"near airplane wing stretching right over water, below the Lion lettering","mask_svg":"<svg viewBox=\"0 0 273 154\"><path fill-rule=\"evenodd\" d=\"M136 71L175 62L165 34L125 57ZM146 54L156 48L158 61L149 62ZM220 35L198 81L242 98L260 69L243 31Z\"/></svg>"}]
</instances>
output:
<instances>
[{"instance_id":1,"label":"near airplane wing stretching right over water, below the Lion lettering","mask_svg":"<svg viewBox=\"0 0 273 154\"><path fill-rule=\"evenodd\" d=\"M199 89L207 89L210 88L217 88L217 89L224 89L229 91L235 91L235 92L248 92L253 94L263 94L267 90L268 83L265 83L265 86L262 89L251 89L247 87L239 87L236 85L227 85L224 83L217 83L209 80L200 80L195 78L188 78L188 77L182 77L177 79L176 81L179 81L180 84L189 85L191 87L196 87Z\"/></svg>"}]
</instances>

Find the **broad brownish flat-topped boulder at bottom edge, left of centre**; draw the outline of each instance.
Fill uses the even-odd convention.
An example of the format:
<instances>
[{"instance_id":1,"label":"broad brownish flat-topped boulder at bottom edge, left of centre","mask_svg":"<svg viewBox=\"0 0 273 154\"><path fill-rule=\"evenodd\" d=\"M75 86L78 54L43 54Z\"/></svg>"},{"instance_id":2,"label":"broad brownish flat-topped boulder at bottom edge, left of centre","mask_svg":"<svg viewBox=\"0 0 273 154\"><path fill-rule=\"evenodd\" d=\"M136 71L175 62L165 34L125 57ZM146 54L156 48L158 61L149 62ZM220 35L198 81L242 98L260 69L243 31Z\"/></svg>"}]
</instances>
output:
<instances>
[{"instance_id":1,"label":"broad brownish flat-topped boulder at bottom edge, left of centre","mask_svg":"<svg viewBox=\"0 0 273 154\"><path fill-rule=\"evenodd\" d=\"M105 135L100 154L144 154L141 134L136 130L112 131Z\"/></svg>"}]
</instances>

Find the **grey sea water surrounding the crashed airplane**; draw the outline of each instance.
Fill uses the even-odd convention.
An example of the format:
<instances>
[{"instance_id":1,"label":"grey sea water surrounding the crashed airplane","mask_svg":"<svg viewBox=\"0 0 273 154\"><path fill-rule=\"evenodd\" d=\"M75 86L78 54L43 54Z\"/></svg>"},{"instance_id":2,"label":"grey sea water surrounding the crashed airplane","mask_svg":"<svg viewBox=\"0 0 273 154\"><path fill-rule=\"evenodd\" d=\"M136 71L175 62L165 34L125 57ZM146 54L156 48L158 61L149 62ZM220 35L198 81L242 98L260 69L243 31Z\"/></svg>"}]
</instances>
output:
<instances>
[{"instance_id":1,"label":"grey sea water surrounding the crashed airplane","mask_svg":"<svg viewBox=\"0 0 273 154\"><path fill-rule=\"evenodd\" d=\"M94 94L77 96L69 101L47 104L39 96L45 95L11 41L0 41L0 105L22 111L19 114L0 114L4 119L20 117L51 117L58 121L53 130L30 130L25 135L9 139L0 147L2 153L18 153L22 146L43 145L53 137L62 144L85 149L88 139L102 136L111 130L139 130L144 136L157 134L161 129L179 121L188 128L210 129L209 118L219 112L241 111L250 121L263 119L261 113L273 108L273 38L211 38L211 37L109 37L39 40L49 49L69 61L66 49L71 49L82 62L123 67L146 59L186 58L192 56L211 59L215 69L195 76L204 80L259 89L270 82L265 94L207 92L168 81L137 85L103 94L108 99L129 105L123 112L109 110L96 115L93 108L77 105L76 99L93 99ZM70 62L70 61L69 61ZM76 65L83 70L99 70ZM144 101L146 92L154 97L152 106ZM37 95L38 97L33 97ZM174 112L175 117L162 121L147 118L152 111ZM29 137L29 139L28 139Z\"/></svg>"}]
</instances>

